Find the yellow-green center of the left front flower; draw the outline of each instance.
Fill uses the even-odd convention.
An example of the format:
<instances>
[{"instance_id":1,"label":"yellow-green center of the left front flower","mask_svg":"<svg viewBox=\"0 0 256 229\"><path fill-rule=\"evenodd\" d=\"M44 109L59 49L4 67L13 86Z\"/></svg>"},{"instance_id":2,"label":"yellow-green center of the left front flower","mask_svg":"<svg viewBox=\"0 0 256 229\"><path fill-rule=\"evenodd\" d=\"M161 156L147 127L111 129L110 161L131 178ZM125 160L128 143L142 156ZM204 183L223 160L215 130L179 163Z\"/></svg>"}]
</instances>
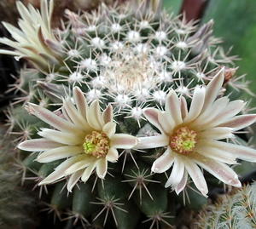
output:
<instances>
[{"instance_id":1,"label":"yellow-green center of the left front flower","mask_svg":"<svg viewBox=\"0 0 256 229\"><path fill-rule=\"evenodd\" d=\"M84 153L94 157L105 157L109 150L108 136L104 132L92 131L84 138Z\"/></svg>"}]
</instances>

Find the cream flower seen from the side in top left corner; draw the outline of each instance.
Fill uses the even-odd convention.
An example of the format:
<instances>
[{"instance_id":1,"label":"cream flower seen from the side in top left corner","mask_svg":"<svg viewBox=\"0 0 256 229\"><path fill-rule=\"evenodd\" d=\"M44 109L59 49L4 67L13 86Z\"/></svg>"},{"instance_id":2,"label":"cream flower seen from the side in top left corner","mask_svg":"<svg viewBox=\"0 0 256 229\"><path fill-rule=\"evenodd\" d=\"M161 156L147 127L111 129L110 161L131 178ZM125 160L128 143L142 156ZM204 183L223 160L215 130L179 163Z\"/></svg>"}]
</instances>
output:
<instances>
[{"instance_id":1,"label":"cream flower seen from the side in top left corner","mask_svg":"<svg viewBox=\"0 0 256 229\"><path fill-rule=\"evenodd\" d=\"M60 65L61 43L55 38L51 31L50 20L54 9L54 1L41 1L41 13L34 9L31 4L26 8L20 1L16 2L21 19L18 24L20 30L7 22L3 26L9 31L15 41L6 37L0 38L0 43L4 43L14 48L14 51L0 49L0 54L15 55L15 58L25 58L30 60L35 66L43 71L48 71L51 66Z\"/></svg>"}]
</instances>

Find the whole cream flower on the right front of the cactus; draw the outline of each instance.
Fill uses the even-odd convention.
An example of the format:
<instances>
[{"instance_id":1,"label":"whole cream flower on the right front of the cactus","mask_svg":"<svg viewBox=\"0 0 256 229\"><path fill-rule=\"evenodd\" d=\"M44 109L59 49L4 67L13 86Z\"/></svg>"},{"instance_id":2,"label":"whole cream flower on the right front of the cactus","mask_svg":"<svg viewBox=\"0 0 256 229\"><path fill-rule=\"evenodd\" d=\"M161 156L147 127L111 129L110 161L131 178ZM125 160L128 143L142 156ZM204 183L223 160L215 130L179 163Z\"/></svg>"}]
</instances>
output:
<instances>
[{"instance_id":1,"label":"whole cream flower on the right front of the cactus","mask_svg":"<svg viewBox=\"0 0 256 229\"><path fill-rule=\"evenodd\" d=\"M256 151L224 141L235 138L232 133L252 124L255 114L237 115L245 103L218 98L224 83L224 71L212 78L207 87L196 86L188 111L186 100L171 91L166 98L166 111L148 108L144 115L160 129L161 135L139 138L139 149L166 146L166 152L152 166L155 173L172 167L166 187L172 186L177 194L186 186L188 175L204 196L207 182L202 169L231 186L241 186L238 176L227 164L236 164L236 158L256 162Z\"/></svg>"}]
</instances>

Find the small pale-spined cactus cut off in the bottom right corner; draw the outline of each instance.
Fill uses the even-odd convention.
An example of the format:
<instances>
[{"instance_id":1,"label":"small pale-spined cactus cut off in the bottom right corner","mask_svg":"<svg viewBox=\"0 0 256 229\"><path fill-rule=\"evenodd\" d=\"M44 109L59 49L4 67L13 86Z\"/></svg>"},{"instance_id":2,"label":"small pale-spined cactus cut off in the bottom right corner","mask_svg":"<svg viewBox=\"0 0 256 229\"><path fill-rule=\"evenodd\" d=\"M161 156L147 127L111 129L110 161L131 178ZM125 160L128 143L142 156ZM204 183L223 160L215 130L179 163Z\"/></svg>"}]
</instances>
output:
<instances>
[{"instance_id":1,"label":"small pale-spined cactus cut off in the bottom right corner","mask_svg":"<svg viewBox=\"0 0 256 229\"><path fill-rule=\"evenodd\" d=\"M234 189L218 198L218 203L201 212L201 220L195 223L198 229L251 229L256 226L256 182Z\"/></svg>"}]
</instances>

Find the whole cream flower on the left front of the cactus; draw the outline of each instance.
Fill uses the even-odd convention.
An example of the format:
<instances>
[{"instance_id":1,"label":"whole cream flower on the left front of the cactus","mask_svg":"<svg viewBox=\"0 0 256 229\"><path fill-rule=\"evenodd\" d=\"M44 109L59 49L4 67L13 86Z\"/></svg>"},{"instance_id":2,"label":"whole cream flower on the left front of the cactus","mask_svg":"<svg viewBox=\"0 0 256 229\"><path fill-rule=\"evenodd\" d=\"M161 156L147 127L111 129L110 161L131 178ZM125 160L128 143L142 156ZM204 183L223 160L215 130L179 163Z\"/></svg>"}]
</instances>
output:
<instances>
[{"instance_id":1,"label":"whole cream flower on the left front of the cactus","mask_svg":"<svg viewBox=\"0 0 256 229\"><path fill-rule=\"evenodd\" d=\"M39 163L49 163L67 158L55 171L41 181L49 184L70 175L67 189L72 191L79 179L84 182L96 169L96 175L103 179L107 174L108 162L114 163L119 157L117 149L130 149L137 145L137 138L126 134L115 134L111 105L101 113L98 100L90 106L82 91L73 89L75 105L70 98L63 100L62 114L59 117L44 107L29 104L32 114L51 125L54 129L41 129L41 139L26 140L18 146L29 152L42 152Z\"/></svg>"}]
</instances>

